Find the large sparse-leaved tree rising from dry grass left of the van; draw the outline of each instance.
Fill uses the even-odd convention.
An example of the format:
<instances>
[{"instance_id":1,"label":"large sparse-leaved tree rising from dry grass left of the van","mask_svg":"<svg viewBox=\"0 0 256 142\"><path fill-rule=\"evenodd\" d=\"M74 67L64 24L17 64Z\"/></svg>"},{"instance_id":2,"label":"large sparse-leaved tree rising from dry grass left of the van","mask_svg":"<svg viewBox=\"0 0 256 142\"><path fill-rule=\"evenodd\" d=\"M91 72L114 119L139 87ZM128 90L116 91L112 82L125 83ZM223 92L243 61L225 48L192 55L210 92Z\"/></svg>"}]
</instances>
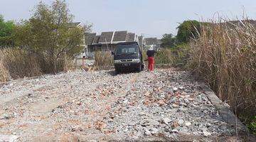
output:
<instances>
[{"instance_id":1,"label":"large sparse-leaved tree rising from dry grass left of the van","mask_svg":"<svg viewBox=\"0 0 256 142\"><path fill-rule=\"evenodd\" d=\"M65 0L55 0L48 6L40 2L33 16L16 28L16 44L48 58L52 72L63 55L82 50L84 28L73 26Z\"/></svg>"}]
</instances>

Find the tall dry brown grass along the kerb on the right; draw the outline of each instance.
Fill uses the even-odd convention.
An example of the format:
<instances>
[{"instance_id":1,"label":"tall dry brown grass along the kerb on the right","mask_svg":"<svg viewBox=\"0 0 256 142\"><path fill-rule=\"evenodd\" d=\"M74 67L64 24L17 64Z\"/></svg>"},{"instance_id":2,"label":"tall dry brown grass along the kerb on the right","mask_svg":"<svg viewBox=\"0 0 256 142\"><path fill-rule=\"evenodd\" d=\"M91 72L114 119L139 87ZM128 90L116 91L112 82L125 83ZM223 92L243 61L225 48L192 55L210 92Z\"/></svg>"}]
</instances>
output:
<instances>
[{"instance_id":1,"label":"tall dry brown grass along the kerb on the right","mask_svg":"<svg viewBox=\"0 0 256 142\"><path fill-rule=\"evenodd\" d=\"M256 26L210 21L191 42L189 67L237 114L256 114Z\"/></svg>"}]
</instances>

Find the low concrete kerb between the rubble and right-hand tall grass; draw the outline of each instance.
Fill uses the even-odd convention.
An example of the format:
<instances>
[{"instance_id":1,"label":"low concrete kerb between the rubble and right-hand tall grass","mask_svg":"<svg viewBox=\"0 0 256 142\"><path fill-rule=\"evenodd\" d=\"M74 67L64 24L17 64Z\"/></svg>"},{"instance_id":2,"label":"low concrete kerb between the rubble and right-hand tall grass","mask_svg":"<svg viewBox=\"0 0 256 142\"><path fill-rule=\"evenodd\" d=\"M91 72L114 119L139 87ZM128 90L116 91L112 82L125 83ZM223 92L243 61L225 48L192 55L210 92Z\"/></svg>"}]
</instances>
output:
<instances>
[{"instance_id":1,"label":"low concrete kerb between the rubble and right-hand tall grass","mask_svg":"<svg viewBox=\"0 0 256 142\"><path fill-rule=\"evenodd\" d=\"M223 120L227 124L231 124L232 126L235 126L238 135L242 135L242 136L250 135L247 127L244 124L242 124L242 122L238 119L237 116L235 116L235 114L230 110L230 108L227 105L225 105L217 97L217 95L213 92L212 89L205 86L205 87L203 87L203 92L206 94L208 99L210 99L210 102L213 104L215 109L218 110L218 112L220 113L220 116L222 116Z\"/></svg>"}]
</instances>

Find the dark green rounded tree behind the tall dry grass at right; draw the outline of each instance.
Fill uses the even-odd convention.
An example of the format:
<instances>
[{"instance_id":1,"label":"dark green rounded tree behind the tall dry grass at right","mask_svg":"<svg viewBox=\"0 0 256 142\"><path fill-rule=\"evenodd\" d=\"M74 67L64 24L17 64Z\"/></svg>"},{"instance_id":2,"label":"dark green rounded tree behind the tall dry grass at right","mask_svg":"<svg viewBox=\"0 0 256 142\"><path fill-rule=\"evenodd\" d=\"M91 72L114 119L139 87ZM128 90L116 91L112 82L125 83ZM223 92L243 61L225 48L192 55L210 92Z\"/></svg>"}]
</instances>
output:
<instances>
[{"instance_id":1,"label":"dark green rounded tree behind the tall dry grass at right","mask_svg":"<svg viewBox=\"0 0 256 142\"><path fill-rule=\"evenodd\" d=\"M178 26L178 43L188 43L191 38L197 38L201 31L201 23L198 21L184 21Z\"/></svg>"}]
</instances>

